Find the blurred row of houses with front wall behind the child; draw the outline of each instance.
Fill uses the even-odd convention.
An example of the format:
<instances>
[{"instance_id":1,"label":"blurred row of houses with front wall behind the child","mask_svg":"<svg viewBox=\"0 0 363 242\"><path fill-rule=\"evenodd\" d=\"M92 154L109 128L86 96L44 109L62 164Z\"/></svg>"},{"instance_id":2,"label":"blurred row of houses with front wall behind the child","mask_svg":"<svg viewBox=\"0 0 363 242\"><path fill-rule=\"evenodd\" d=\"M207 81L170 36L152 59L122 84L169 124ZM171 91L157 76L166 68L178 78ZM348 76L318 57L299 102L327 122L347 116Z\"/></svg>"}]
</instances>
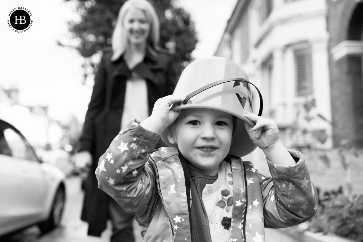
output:
<instances>
[{"instance_id":1,"label":"blurred row of houses with front wall behind the child","mask_svg":"<svg viewBox=\"0 0 363 242\"><path fill-rule=\"evenodd\" d=\"M259 87L323 190L363 192L362 23L362 0L238 0L215 52ZM268 172L261 150L243 159Z\"/></svg>"}]
</instances>

